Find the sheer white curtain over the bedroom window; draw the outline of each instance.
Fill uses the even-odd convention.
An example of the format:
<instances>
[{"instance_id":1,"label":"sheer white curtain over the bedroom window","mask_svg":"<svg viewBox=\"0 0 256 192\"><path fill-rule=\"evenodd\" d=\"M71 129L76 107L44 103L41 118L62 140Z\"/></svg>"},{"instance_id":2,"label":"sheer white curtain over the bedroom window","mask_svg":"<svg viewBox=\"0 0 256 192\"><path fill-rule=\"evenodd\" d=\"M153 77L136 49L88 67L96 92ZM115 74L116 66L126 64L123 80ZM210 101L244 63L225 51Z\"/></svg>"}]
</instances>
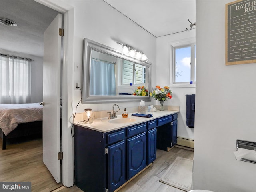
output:
<instances>
[{"instance_id":1,"label":"sheer white curtain over the bedroom window","mask_svg":"<svg viewBox=\"0 0 256 192\"><path fill-rule=\"evenodd\" d=\"M29 103L31 62L26 58L0 55L0 104Z\"/></svg>"}]
</instances>

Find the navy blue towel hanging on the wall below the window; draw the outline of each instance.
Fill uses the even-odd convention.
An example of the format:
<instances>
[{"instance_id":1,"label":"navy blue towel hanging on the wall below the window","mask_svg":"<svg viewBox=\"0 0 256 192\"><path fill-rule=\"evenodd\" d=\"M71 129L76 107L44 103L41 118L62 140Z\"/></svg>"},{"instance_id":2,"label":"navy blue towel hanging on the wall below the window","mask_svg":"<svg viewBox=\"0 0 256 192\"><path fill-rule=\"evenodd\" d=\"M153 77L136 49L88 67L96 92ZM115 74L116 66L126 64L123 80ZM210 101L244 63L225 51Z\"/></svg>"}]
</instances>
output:
<instances>
[{"instance_id":1,"label":"navy blue towel hanging on the wall below the window","mask_svg":"<svg viewBox=\"0 0 256 192\"><path fill-rule=\"evenodd\" d=\"M195 127L195 98L196 95L187 95L187 126Z\"/></svg>"}]
</instances>

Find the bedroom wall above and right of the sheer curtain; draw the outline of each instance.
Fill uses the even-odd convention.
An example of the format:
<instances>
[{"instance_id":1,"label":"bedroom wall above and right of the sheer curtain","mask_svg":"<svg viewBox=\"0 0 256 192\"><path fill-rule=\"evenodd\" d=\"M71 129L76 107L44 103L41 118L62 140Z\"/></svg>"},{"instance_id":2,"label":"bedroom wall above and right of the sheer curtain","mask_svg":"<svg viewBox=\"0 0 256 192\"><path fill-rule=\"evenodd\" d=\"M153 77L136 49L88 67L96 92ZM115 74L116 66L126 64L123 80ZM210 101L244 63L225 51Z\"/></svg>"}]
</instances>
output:
<instances>
[{"instance_id":1,"label":"bedroom wall above and right of the sheer curtain","mask_svg":"<svg viewBox=\"0 0 256 192\"><path fill-rule=\"evenodd\" d=\"M31 62L31 103L42 102L43 100L43 58L24 54L22 52L12 52L0 49L0 53L30 58Z\"/></svg>"}]
</instances>

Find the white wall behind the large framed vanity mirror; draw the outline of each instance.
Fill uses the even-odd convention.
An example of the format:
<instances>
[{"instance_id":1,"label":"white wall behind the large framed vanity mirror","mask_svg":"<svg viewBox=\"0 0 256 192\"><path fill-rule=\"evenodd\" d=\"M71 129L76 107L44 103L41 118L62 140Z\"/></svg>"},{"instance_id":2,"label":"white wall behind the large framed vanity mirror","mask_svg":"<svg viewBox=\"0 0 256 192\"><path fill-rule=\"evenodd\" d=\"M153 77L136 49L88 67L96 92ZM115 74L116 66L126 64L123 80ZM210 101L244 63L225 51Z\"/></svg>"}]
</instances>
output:
<instances>
[{"instance_id":1,"label":"white wall behind the large framed vanity mirror","mask_svg":"<svg viewBox=\"0 0 256 192\"><path fill-rule=\"evenodd\" d=\"M130 19L120 14L117 10L106 4L104 1L64 1L74 7L74 70L73 82L82 84L82 57L83 39L88 38L106 46L121 50L122 46L116 41L129 44L142 50L152 63L153 82L156 71L156 38L140 28ZM80 90L73 93L73 112L80 100ZM136 103L118 103L120 108L138 106ZM148 103L146 103L148 105ZM83 112L84 108L92 108L94 111L111 111L113 103L110 104L79 104L77 113Z\"/></svg>"}]
</instances>

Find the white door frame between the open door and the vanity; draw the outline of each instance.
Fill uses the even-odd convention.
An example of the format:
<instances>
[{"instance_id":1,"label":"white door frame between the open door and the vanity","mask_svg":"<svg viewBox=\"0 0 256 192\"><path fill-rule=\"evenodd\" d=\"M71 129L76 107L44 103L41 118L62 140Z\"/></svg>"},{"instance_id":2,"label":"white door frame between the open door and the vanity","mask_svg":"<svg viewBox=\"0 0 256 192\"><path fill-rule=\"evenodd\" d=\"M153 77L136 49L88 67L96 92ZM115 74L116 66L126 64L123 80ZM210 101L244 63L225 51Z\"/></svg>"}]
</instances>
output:
<instances>
[{"instance_id":1,"label":"white door frame between the open door and the vanity","mask_svg":"<svg viewBox=\"0 0 256 192\"><path fill-rule=\"evenodd\" d=\"M66 187L74 185L74 142L71 136L73 123L73 38L74 7L64 1L34 0L64 14L63 76L62 76L62 183ZM71 166L72 165L72 166Z\"/></svg>"}]
</instances>

